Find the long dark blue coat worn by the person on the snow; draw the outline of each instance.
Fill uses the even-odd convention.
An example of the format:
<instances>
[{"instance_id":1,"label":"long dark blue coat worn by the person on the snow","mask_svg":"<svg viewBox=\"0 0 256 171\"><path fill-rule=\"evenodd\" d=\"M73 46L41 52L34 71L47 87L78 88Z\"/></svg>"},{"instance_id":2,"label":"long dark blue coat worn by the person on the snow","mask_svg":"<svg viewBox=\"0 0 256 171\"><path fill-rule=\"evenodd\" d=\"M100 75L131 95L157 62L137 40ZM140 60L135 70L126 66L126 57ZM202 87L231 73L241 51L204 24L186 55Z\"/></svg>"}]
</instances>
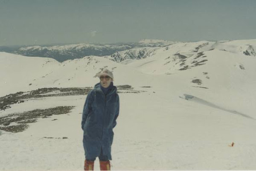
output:
<instances>
[{"instance_id":1,"label":"long dark blue coat worn by the person on the snow","mask_svg":"<svg viewBox=\"0 0 256 171\"><path fill-rule=\"evenodd\" d=\"M102 154L111 160L113 128L119 115L119 96L115 86L105 95L99 84L88 93L84 104L81 122L83 145L86 158L99 157L102 150Z\"/></svg>"}]
</instances>

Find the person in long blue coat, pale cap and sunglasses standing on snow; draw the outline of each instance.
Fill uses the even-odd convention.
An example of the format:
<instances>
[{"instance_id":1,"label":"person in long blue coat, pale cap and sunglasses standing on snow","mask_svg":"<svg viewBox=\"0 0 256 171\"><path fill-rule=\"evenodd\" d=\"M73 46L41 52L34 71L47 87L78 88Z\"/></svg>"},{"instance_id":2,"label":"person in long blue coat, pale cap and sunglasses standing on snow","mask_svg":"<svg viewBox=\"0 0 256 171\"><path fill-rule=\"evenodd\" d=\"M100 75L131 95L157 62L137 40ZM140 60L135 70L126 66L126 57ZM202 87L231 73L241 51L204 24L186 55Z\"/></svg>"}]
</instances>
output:
<instances>
[{"instance_id":1,"label":"person in long blue coat, pale cap and sunglasses standing on snow","mask_svg":"<svg viewBox=\"0 0 256 171\"><path fill-rule=\"evenodd\" d=\"M100 170L110 170L113 128L119 115L119 96L113 86L113 73L107 69L99 72L100 82L86 98L81 126L84 130L84 170L93 170L99 157Z\"/></svg>"}]
</instances>

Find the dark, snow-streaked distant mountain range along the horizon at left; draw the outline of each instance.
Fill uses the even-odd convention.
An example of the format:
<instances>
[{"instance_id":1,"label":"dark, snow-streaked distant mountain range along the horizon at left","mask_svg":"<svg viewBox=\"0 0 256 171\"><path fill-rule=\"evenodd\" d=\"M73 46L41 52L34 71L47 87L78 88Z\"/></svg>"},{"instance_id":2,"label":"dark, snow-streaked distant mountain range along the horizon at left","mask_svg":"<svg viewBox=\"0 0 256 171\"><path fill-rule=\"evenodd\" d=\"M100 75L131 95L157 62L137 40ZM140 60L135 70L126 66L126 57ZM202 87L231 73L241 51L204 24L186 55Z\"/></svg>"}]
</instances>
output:
<instances>
[{"instance_id":1,"label":"dark, snow-streaked distant mountain range along the horizon at left","mask_svg":"<svg viewBox=\"0 0 256 171\"><path fill-rule=\"evenodd\" d=\"M141 52L138 52L140 55L130 55L132 59L145 58L145 47L163 47L174 44L177 42L173 41L162 41L162 40L142 40L137 43L113 43L113 44L70 44L70 45L61 45L61 46L26 46L16 48L8 48L2 46L0 51L9 52L18 55L24 56L37 56L37 57L46 57L54 58L59 62L66 60L72 60L76 58L83 58L84 56L108 56L116 54L116 52L121 52L125 50L130 50L134 48L144 48L141 49ZM132 50L134 51L134 50ZM144 55L144 56L143 56ZM113 55L117 57L118 55ZM114 58L113 61L123 61L124 57L119 59ZM128 58L128 56L126 56Z\"/></svg>"}]
</instances>

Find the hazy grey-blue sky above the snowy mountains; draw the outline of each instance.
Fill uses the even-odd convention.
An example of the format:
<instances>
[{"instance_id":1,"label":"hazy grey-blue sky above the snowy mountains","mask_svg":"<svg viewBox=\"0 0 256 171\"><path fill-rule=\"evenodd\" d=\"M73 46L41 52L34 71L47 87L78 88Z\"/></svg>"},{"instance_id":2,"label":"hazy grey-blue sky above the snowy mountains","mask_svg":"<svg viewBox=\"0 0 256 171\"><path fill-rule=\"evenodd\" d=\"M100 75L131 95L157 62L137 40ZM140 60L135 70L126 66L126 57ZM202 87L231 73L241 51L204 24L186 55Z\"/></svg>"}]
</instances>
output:
<instances>
[{"instance_id":1,"label":"hazy grey-blue sky above the snowy mountains","mask_svg":"<svg viewBox=\"0 0 256 171\"><path fill-rule=\"evenodd\" d=\"M0 0L0 46L256 38L256 0Z\"/></svg>"}]
</instances>

